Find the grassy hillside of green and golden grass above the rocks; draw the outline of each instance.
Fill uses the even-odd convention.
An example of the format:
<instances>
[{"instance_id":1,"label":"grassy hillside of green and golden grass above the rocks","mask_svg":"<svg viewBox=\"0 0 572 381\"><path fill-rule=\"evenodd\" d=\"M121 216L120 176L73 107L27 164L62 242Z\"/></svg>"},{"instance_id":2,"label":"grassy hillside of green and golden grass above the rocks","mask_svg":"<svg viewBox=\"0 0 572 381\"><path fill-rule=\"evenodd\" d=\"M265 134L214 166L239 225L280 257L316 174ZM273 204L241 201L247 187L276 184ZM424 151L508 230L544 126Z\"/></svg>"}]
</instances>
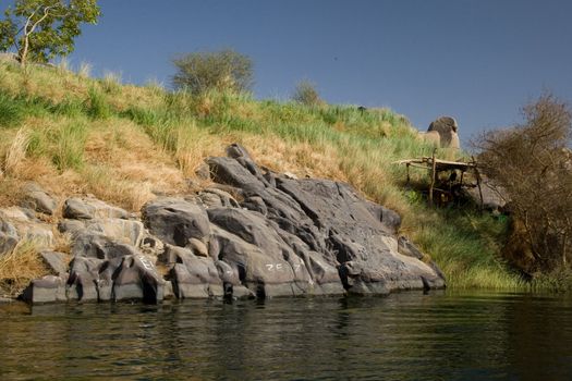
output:
<instances>
[{"instance_id":1,"label":"grassy hillside of green and golden grass above the rocks","mask_svg":"<svg viewBox=\"0 0 572 381\"><path fill-rule=\"evenodd\" d=\"M404 168L391 162L429 156L433 148L391 110L312 108L244 94L193 97L121 85L111 75L0 63L0 207L17 204L20 187L34 180L61 198L94 194L137 211L157 194L206 186L195 169L233 142L261 165L348 182L400 212L402 232L437 261L450 286L525 287L498 257L503 222L429 209L418 193L404 189ZM413 181L425 176L413 173Z\"/></svg>"}]
</instances>

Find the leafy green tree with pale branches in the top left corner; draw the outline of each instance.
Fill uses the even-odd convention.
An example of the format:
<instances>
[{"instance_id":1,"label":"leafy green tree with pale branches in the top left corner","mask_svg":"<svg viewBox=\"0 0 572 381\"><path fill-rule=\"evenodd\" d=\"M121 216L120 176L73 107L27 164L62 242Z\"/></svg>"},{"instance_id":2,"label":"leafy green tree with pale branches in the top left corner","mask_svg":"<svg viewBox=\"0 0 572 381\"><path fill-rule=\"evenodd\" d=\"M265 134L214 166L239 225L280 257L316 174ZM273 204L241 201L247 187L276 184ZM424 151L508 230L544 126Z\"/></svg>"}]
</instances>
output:
<instances>
[{"instance_id":1,"label":"leafy green tree with pale branches in the top left corner","mask_svg":"<svg viewBox=\"0 0 572 381\"><path fill-rule=\"evenodd\" d=\"M16 0L0 21L0 50L15 47L22 65L68 56L82 23L97 23L96 0Z\"/></svg>"}]
</instances>

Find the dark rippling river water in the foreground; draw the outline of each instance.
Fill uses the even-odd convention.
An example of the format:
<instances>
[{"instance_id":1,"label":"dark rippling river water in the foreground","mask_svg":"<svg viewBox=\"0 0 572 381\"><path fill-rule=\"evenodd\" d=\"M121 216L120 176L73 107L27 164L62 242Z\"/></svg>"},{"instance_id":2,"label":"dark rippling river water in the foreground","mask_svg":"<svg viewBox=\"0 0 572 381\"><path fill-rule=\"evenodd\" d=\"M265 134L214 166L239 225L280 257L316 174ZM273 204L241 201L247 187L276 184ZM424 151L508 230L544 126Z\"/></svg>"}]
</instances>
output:
<instances>
[{"instance_id":1,"label":"dark rippling river water in the foreground","mask_svg":"<svg viewBox=\"0 0 572 381\"><path fill-rule=\"evenodd\" d=\"M571 380L572 297L0 305L0 379Z\"/></svg>"}]
</instances>

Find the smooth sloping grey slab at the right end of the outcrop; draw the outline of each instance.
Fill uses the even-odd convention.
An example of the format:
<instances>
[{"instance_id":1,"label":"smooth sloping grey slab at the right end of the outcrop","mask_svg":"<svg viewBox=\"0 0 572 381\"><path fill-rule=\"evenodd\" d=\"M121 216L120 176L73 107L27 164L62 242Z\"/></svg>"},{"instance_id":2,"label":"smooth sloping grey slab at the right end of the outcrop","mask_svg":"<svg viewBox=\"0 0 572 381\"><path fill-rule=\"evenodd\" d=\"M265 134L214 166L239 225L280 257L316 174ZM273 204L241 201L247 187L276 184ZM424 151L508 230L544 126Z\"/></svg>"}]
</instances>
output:
<instances>
[{"instance_id":1,"label":"smooth sloping grey slab at the right end of the outcrop","mask_svg":"<svg viewBox=\"0 0 572 381\"><path fill-rule=\"evenodd\" d=\"M423 288L424 280L433 287L445 284L430 267L398 253L395 213L381 207L373 210L349 185L306 179L280 180L278 187L294 197L327 233L327 247L332 249L322 255L336 257L348 292Z\"/></svg>"}]
</instances>

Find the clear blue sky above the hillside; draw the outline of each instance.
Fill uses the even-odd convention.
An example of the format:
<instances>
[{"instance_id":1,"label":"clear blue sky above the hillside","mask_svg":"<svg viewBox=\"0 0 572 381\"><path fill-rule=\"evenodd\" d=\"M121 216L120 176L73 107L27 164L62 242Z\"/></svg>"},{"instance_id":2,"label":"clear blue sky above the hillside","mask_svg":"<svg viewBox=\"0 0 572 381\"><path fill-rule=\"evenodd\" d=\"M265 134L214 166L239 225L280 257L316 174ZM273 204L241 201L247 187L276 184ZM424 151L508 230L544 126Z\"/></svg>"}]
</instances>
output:
<instances>
[{"instance_id":1,"label":"clear blue sky above the hillside","mask_svg":"<svg viewBox=\"0 0 572 381\"><path fill-rule=\"evenodd\" d=\"M100 0L72 64L169 85L177 53L233 48L257 98L309 79L328 102L390 107L419 130L441 114L463 140L519 122L551 90L572 101L568 0Z\"/></svg>"}]
</instances>

